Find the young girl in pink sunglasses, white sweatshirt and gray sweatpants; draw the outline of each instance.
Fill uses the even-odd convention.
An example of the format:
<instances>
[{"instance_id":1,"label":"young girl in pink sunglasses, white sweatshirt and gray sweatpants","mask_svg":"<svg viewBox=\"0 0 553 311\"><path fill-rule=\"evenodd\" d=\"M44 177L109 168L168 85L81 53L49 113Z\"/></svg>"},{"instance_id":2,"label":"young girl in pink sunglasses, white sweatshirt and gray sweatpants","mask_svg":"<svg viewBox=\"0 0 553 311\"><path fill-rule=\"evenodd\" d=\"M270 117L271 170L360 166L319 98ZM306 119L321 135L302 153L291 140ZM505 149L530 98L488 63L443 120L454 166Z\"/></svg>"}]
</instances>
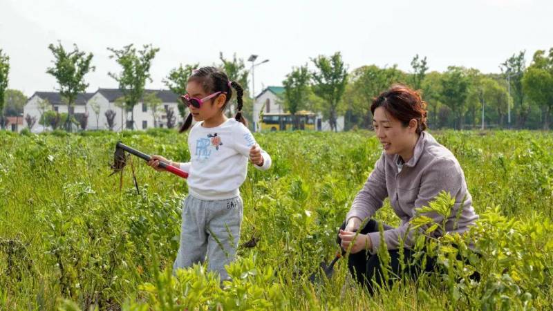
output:
<instances>
[{"instance_id":1,"label":"young girl in pink sunglasses, white sweatshirt and gray sweatpants","mask_svg":"<svg viewBox=\"0 0 553 311\"><path fill-rule=\"evenodd\" d=\"M236 116L228 119L225 108L236 90ZM225 265L234 260L240 239L243 202L238 188L245 180L248 158L256 169L271 166L268 153L256 144L242 116L243 89L214 67L196 70L188 79L187 94L181 96L190 111L179 133L187 131L190 162L172 162L152 156L148 165L157 171L167 162L189 173L189 195L182 207L180 247L173 269L203 263L208 270L228 279Z\"/></svg>"}]
</instances>

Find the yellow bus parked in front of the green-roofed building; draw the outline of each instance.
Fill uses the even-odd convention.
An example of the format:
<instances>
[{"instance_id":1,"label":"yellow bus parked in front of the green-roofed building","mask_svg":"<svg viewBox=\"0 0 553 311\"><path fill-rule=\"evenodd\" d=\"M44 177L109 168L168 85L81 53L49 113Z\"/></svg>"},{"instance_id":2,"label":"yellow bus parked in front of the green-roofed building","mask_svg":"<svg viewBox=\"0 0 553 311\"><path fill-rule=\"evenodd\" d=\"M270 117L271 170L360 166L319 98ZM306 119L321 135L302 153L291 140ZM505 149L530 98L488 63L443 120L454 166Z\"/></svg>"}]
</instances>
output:
<instances>
[{"instance_id":1,"label":"yellow bus parked in front of the green-roofed building","mask_svg":"<svg viewBox=\"0 0 553 311\"><path fill-rule=\"evenodd\" d=\"M294 128L293 116L290 113L264 113L260 122L261 131L285 131ZM296 113L298 129L312 130L315 128L317 115L311 111L298 111Z\"/></svg>"}]
</instances>

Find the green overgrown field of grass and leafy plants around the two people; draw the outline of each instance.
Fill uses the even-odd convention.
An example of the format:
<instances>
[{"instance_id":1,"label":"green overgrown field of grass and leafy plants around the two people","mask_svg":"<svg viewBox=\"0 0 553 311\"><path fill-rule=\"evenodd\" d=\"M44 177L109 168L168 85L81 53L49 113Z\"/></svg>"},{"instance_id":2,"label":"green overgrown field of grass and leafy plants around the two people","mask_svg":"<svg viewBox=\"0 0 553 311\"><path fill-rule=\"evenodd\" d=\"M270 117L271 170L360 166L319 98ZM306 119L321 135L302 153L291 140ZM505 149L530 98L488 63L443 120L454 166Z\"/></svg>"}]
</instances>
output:
<instances>
[{"instance_id":1,"label":"green overgrown field of grass and leafy plants around the two people","mask_svg":"<svg viewBox=\"0 0 553 311\"><path fill-rule=\"evenodd\" d=\"M337 251L337 227L382 152L373 133L256 135L273 166L250 167L241 187L241 247L221 286L201 266L171 276L184 180L138 158L140 194L131 167L121 191L109 177L118 140L185 161L186 135L0 132L0 310L551 309L553 135L433 135L465 171L478 227L434 242L442 274L368 296L345 261L330 280L313 285L308 276ZM376 218L399 223L387 202ZM255 247L243 245L252 237ZM450 245L465 238L476 238L482 257L456 261ZM472 270L480 282L467 278Z\"/></svg>"}]
</instances>

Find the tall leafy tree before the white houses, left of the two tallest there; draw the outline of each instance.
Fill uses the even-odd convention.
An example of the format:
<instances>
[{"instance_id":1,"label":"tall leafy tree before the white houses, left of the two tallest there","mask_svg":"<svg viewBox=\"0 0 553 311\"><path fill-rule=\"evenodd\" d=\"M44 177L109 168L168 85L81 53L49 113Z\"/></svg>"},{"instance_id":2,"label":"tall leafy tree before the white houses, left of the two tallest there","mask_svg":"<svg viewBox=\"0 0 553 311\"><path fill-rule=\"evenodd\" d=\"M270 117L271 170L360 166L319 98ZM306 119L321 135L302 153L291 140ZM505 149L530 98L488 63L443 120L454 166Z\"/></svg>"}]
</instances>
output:
<instances>
[{"instance_id":1,"label":"tall leafy tree before the white houses, left of the two tallest there","mask_svg":"<svg viewBox=\"0 0 553 311\"><path fill-rule=\"evenodd\" d=\"M73 109L77 95L83 93L88 84L84 82L84 75L89 71L94 71L95 67L91 66L92 53L82 52L73 44L73 51L67 52L58 42L57 46L50 44L48 46L52 51L55 60L54 67L48 68L46 73L53 75L59 84L59 95L61 95L67 104L68 117L65 122L66 131L71 131L71 120L73 120Z\"/></svg>"}]
</instances>

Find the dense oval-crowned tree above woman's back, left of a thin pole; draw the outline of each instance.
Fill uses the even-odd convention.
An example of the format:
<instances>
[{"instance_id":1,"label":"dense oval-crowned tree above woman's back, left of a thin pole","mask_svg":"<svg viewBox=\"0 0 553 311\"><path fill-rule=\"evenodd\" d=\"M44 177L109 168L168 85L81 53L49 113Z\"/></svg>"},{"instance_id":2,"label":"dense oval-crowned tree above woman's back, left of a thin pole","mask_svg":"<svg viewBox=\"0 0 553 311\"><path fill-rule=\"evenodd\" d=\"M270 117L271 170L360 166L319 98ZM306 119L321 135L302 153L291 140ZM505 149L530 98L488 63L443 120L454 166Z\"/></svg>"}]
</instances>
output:
<instances>
[{"instance_id":1,"label":"dense oval-crowned tree above woman's back, left of a thin pole","mask_svg":"<svg viewBox=\"0 0 553 311\"><path fill-rule=\"evenodd\" d=\"M469 91L469 78L464 68L449 66L442 75L441 101L449 106L455 118L455 128L463 128L465 100Z\"/></svg>"}]
</instances>

